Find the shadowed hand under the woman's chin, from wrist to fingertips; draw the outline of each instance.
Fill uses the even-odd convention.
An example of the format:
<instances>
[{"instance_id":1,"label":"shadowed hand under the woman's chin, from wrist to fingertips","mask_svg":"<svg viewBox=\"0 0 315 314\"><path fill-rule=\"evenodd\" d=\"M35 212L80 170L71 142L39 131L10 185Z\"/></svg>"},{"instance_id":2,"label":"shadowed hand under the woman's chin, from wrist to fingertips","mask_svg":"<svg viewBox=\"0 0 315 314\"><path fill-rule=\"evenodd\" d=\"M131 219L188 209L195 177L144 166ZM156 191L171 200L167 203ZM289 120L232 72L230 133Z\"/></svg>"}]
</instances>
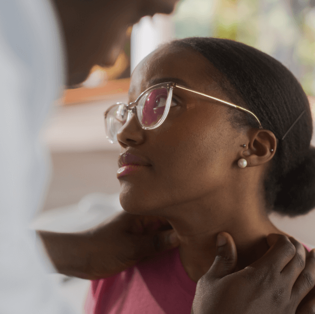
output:
<instances>
[{"instance_id":1,"label":"shadowed hand under the woman's chin, from wrist to fingertips","mask_svg":"<svg viewBox=\"0 0 315 314\"><path fill-rule=\"evenodd\" d=\"M89 279L117 274L140 260L152 258L179 245L176 233L161 217L122 211L90 233Z\"/></svg>"}]
</instances>

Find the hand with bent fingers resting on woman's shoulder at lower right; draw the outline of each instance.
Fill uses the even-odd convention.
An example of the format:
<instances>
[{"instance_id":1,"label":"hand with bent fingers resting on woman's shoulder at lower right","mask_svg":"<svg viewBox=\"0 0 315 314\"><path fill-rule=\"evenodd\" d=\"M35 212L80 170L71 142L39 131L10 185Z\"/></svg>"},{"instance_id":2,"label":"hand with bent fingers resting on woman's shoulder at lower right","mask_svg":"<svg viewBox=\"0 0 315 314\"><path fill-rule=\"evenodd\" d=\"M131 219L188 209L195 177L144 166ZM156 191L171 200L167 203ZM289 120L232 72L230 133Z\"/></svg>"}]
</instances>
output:
<instances>
[{"instance_id":1,"label":"hand with bent fingers resting on woman's shoulder at lower right","mask_svg":"<svg viewBox=\"0 0 315 314\"><path fill-rule=\"evenodd\" d=\"M233 273L236 246L231 235L221 235L227 243L217 246L212 266L198 281L191 314L315 313L314 249L307 253L294 238L271 234L264 256Z\"/></svg>"}]
</instances>

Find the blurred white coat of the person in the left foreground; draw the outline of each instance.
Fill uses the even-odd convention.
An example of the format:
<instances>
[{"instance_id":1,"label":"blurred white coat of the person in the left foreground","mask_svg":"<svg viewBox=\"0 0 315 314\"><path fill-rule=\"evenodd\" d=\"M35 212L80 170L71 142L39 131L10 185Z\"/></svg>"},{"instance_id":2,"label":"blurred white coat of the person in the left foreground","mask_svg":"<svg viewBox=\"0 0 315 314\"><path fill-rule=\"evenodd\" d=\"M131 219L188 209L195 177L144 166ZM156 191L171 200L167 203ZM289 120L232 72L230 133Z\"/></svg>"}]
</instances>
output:
<instances>
[{"instance_id":1,"label":"blurred white coat of the person in the left foreground","mask_svg":"<svg viewBox=\"0 0 315 314\"><path fill-rule=\"evenodd\" d=\"M28 229L49 178L38 138L63 86L62 51L49 0L0 1L1 314L74 313L48 279L52 265Z\"/></svg>"}]
</instances>

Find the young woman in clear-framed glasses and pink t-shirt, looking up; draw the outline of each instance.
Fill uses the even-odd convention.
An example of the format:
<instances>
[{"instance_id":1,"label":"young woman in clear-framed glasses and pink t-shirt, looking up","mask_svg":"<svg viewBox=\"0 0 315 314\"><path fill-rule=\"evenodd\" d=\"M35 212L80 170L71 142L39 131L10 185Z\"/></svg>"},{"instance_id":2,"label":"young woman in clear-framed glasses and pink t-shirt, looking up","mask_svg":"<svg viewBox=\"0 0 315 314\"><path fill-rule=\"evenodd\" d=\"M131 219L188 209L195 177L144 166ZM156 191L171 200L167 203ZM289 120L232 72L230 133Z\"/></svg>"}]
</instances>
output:
<instances>
[{"instance_id":1,"label":"young woman in clear-framed glasses and pink t-shirt, looking up","mask_svg":"<svg viewBox=\"0 0 315 314\"><path fill-rule=\"evenodd\" d=\"M152 52L134 70L129 95L131 104L105 113L107 136L122 147L121 205L166 218L180 247L92 282L87 312L190 313L219 232L233 236L240 270L268 250L268 234L284 234L271 211L315 207L310 106L281 63L217 38Z\"/></svg>"}]
</instances>

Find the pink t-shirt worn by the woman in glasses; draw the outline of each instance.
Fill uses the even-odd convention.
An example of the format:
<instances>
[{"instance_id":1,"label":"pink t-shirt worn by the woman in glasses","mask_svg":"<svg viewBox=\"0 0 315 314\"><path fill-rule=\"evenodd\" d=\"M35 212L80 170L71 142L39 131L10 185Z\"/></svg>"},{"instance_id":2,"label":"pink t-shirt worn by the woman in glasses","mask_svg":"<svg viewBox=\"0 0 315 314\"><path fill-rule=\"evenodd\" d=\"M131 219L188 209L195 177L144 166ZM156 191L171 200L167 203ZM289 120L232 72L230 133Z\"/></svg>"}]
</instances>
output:
<instances>
[{"instance_id":1,"label":"pink t-shirt worn by the woman in glasses","mask_svg":"<svg viewBox=\"0 0 315 314\"><path fill-rule=\"evenodd\" d=\"M190 314L196 286L184 270L179 250L174 249L118 275L93 280L85 313Z\"/></svg>"}]
</instances>

